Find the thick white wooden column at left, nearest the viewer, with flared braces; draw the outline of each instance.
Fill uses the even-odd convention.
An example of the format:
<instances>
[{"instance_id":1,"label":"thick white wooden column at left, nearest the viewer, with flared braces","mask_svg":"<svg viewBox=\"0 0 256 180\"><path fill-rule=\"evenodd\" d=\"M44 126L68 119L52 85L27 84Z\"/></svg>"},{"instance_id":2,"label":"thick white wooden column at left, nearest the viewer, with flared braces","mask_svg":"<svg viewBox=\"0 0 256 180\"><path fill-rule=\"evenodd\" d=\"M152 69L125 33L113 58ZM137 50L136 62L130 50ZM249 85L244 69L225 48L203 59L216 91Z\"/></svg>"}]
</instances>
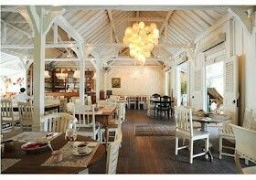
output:
<instances>
[{"instance_id":1,"label":"thick white wooden column at left, nearest the viewer, with flared braces","mask_svg":"<svg viewBox=\"0 0 256 180\"><path fill-rule=\"evenodd\" d=\"M34 109L34 124L32 126L33 131L40 130L40 119L44 115L45 106L45 46L46 46L46 34L52 25L56 16L61 10L46 10L42 7L31 5L27 7L27 20L32 25L34 32L34 69L33 69L33 109ZM22 16L26 16L22 14Z\"/></svg>"}]
</instances>

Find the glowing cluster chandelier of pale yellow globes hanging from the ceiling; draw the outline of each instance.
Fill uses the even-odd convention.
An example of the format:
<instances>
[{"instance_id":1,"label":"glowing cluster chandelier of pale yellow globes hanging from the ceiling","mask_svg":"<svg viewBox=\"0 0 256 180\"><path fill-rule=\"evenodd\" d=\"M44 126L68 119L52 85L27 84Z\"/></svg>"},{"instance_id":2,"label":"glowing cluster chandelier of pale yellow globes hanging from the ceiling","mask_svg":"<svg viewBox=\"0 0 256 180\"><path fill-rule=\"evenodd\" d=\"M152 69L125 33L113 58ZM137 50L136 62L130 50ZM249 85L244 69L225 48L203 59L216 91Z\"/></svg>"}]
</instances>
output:
<instances>
[{"instance_id":1,"label":"glowing cluster chandelier of pale yellow globes hanging from the ceiling","mask_svg":"<svg viewBox=\"0 0 256 180\"><path fill-rule=\"evenodd\" d=\"M125 29L123 44L129 46L130 56L144 65L145 58L150 58L155 45L158 44L159 30L155 23L145 26L144 22L135 23Z\"/></svg>"}]
</instances>

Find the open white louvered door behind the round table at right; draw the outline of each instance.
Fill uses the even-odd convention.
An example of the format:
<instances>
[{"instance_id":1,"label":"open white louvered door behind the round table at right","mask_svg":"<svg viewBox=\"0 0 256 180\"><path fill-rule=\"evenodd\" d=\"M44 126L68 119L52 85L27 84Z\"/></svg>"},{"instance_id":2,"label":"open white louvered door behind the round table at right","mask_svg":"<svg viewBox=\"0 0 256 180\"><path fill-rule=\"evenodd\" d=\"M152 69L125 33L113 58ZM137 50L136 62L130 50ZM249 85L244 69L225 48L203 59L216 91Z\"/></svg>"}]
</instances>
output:
<instances>
[{"instance_id":1,"label":"open white louvered door behind the round table at right","mask_svg":"<svg viewBox=\"0 0 256 180\"><path fill-rule=\"evenodd\" d=\"M231 116L231 123L238 124L239 69L238 57L224 61L224 112Z\"/></svg>"}]
</instances>

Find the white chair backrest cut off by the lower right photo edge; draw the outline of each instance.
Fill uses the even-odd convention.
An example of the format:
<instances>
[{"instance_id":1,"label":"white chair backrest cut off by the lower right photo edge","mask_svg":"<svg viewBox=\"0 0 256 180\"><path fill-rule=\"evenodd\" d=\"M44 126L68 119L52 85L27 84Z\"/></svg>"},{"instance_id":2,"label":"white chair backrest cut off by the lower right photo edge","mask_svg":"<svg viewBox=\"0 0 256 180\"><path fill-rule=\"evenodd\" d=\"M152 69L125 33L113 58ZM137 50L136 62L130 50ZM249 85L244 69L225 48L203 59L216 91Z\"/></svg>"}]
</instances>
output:
<instances>
[{"instance_id":1,"label":"white chair backrest cut off by the lower right photo edge","mask_svg":"<svg viewBox=\"0 0 256 180\"><path fill-rule=\"evenodd\" d=\"M256 132L231 124L236 141L236 152L256 164Z\"/></svg>"}]
</instances>

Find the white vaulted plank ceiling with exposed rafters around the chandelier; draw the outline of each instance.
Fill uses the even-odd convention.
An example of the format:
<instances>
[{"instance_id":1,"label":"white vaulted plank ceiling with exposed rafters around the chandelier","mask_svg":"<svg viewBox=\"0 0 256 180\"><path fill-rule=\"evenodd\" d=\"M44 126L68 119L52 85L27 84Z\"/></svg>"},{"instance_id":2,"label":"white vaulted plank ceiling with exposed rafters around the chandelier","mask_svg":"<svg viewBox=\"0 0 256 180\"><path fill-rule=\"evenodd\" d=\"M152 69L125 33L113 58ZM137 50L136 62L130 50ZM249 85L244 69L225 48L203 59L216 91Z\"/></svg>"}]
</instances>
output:
<instances>
[{"instance_id":1,"label":"white vaulted plank ceiling with exposed rafters around the chandelier","mask_svg":"<svg viewBox=\"0 0 256 180\"><path fill-rule=\"evenodd\" d=\"M23 16L18 13L25 6L1 7L1 45L33 45L32 29ZM47 8L47 7L46 7ZM215 24L228 11L228 6L207 7L172 7L152 8L129 7L109 8L88 6L65 6L62 15L84 40L86 44L94 45L90 58L100 58L104 66L133 65L129 58L129 50L122 46L124 30L133 23L155 23L160 30L159 46L155 47L152 58L146 60L146 65L168 65L171 58L182 46L194 44L195 39ZM135 10L136 9L136 10ZM161 11L159 11L159 9ZM53 28L49 30L46 42L53 43ZM62 28L58 28L59 41L69 43L72 37ZM3 36L6 34L6 37ZM20 58L33 58L33 48L2 48L1 51ZM77 58L71 48L46 48L46 58ZM48 62L54 66L77 66L72 61ZM91 66L90 61L86 66Z\"/></svg>"}]
</instances>

